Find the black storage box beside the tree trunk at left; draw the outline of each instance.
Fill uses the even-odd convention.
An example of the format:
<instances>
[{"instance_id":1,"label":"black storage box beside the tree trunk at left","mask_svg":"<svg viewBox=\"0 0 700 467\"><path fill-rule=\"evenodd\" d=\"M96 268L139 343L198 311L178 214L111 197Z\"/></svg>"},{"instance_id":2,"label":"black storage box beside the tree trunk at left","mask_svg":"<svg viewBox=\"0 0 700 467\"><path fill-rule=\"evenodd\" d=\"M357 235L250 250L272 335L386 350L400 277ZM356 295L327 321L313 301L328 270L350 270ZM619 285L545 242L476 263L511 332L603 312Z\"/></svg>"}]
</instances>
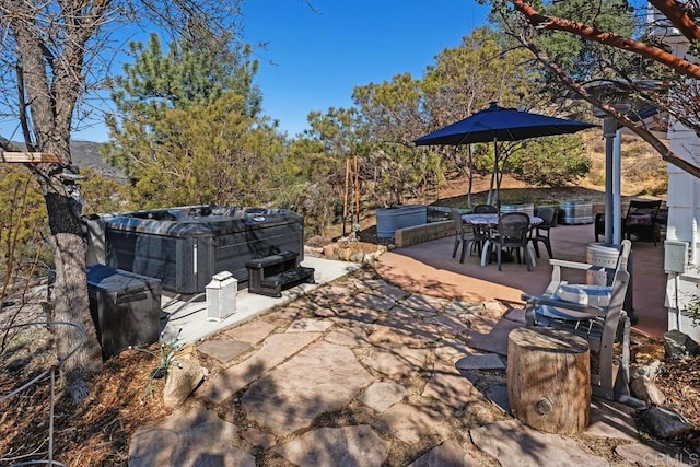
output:
<instances>
[{"instance_id":1,"label":"black storage box beside the tree trunk at left","mask_svg":"<svg viewBox=\"0 0 700 467\"><path fill-rule=\"evenodd\" d=\"M159 340L161 281L104 265L88 266L90 312L105 359Z\"/></svg>"}]
</instances>

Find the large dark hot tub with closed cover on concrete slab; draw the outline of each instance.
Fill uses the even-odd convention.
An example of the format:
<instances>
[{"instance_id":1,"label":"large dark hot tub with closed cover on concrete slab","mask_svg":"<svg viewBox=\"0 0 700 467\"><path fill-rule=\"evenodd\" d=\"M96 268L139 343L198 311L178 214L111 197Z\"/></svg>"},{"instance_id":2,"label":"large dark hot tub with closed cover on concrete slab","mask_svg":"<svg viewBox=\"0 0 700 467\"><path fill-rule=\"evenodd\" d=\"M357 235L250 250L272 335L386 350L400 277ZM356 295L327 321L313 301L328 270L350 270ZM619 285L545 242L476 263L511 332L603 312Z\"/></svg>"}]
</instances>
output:
<instances>
[{"instance_id":1,"label":"large dark hot tub with closed cover on concrete slab","mask_svg":"<svg viewBox=\"0 0 700 467\"><path fill-rule=\"evenodd\" d=\"M228 270L246 288L246 261L289 250L304 254L303 218L285 209L190 206L130 211L105 222L105 262L158 278L163 289L203 292Z\"/></svg>"}]
</instances>

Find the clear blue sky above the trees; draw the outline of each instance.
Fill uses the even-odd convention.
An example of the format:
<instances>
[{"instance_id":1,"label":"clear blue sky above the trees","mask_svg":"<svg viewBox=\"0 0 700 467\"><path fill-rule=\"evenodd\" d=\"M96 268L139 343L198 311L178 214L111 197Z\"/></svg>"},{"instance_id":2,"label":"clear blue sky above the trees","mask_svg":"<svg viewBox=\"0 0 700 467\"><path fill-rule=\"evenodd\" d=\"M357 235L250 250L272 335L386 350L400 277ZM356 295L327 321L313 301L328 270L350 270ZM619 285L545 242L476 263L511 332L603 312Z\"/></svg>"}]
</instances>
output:
<instances>
[{"instance_id":1,"label":"clear blue sky above the trees","mask_svg":"<svg viewBox=\"0 0 700 467\"><path fill-rule=\"evenodd\" d=\"M225 1L225 0L224 0ZM422 75L446 47L486 23L475 0L247 0L245 40L256 49L264 113L289 137L312 110L352 105L352 89ZM145 35L144 38L145 40ZM106 141L102 125L73 139Z\"/></svg>"}]
</instances>

